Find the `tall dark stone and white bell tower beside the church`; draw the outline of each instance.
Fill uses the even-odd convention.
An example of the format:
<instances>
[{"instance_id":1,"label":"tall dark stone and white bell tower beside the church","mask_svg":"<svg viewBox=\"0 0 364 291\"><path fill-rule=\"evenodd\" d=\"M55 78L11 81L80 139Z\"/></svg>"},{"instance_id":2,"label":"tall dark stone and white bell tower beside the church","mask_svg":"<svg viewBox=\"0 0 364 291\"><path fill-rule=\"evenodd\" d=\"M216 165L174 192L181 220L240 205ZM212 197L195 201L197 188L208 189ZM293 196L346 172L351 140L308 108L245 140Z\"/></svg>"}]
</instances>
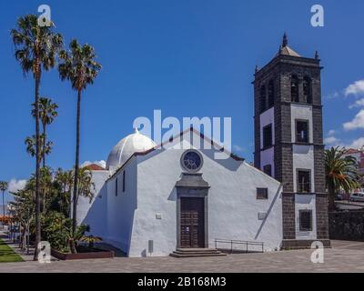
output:
<instances>
[{"instance_id":1,"label":"tall dark stone and white bell tower beside the church","mask_svg":"<svg viewBox=\"0 0 364 291\"><path fill-rule=\"evenodd\" d=\"M256 68L255 166L282 183L283 248L329 246L319 54L288 46Z\"/></svg>"}]
</instances>

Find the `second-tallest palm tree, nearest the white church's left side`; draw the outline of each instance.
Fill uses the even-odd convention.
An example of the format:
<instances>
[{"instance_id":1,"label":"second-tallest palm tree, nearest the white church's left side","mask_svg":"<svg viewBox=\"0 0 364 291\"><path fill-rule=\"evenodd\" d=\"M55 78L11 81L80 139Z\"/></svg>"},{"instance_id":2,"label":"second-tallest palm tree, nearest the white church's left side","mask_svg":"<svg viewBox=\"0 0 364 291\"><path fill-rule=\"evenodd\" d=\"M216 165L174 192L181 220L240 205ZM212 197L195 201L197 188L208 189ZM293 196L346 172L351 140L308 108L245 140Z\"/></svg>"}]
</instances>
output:
<instances>
[{"instance_id":1,"label":"second-tallest palm tree, nearest the white church's left side","mask_svg":"<svg viewBox=\"0 0 364 291\"><path fill-rule=\"evenodd\" d=\"M101 65L96 62L95 49L91 45L79 45L76 39L69 45L69 52L66 50L60 53L62 60L58 66L59 75L62 80L68 80L72 88L77 92L77 121L76 121L76 162L73 190L73 224L72 230L76 231L77 211L77 186L79 174L79 147L80 147L80 118L81 118L81 94L86 90L87 85L94 84Z\"/></svg>"}]
</instances>

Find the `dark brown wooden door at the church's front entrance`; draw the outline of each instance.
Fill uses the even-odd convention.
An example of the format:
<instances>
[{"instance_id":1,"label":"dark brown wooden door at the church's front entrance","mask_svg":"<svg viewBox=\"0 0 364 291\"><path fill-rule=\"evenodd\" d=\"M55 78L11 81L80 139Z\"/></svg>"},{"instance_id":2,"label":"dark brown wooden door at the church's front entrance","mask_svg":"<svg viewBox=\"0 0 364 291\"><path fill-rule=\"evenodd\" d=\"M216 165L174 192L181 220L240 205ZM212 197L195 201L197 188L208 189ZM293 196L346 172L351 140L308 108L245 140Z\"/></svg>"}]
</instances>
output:
<instances>
[{"instance_id":1,"label":"dark brown wooden door at the church's front entrance","mask_svg":"<svg viewBox=\"0 0 364 291\"><path fill-rule=\"evenodd\" d=\"M204 198L181 198L181 247L205 247Z\"/></svg>"}]
</instances>

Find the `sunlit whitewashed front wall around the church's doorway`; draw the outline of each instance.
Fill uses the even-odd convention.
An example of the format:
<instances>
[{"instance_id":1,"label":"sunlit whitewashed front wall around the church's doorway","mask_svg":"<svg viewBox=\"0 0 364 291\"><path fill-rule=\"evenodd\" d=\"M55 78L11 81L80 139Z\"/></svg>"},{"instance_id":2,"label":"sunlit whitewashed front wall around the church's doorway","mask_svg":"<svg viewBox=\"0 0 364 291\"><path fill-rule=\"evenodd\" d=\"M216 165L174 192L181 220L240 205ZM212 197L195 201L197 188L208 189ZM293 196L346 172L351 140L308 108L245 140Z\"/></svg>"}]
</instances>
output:
<instances>
[{"instance_id":1,"label":"sunlit whitewashed front wall around the church's doorway","mask_svg":"<svg viewBox=\"0 0 364 291\"><path fill-rule=\"evenodd\" d=\"M194 135L194 138L200 138ZM146 256L148 240L154 240L154 256L167 256L177 246L177 192L183 172L183 149L155 151L137 156L137 209L129 256ZM203 150L203 178L208 194L209 246L215 238L262 241L266 250L282 241L280 184L247 163L232 158L217 161L213 150ZM257 187L269 188L269 199L257 200ZM268 213L258 220L258 213ZM156 215L162 219L156 219Z\"/></svg>"}]
</instances>

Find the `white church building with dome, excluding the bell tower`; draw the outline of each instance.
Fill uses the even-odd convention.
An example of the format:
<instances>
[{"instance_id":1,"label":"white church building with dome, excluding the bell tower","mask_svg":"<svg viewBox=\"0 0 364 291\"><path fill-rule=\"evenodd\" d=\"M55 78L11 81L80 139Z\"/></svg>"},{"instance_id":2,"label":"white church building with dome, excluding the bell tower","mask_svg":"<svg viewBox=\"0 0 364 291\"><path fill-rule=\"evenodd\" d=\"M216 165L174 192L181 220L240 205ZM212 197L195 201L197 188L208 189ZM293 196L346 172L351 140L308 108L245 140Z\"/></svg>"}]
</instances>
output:
<instances>
[{"instance_id":1,"label":"white church building with dome, excluding the bell tower","mask_svg":"<svg viewBox=\"0 0 364 291\"><path fill-rule=\"evenodd\" d=\"M215 248L216 239L279 249L280 183L230 153L216 159L222 152L193 129L160 146L136 131L114 147L107 169L92 171L96 196L80 198L78 222L127 256L148 256L149 241L153 256Z\"/></svg>"}]
</instances>

